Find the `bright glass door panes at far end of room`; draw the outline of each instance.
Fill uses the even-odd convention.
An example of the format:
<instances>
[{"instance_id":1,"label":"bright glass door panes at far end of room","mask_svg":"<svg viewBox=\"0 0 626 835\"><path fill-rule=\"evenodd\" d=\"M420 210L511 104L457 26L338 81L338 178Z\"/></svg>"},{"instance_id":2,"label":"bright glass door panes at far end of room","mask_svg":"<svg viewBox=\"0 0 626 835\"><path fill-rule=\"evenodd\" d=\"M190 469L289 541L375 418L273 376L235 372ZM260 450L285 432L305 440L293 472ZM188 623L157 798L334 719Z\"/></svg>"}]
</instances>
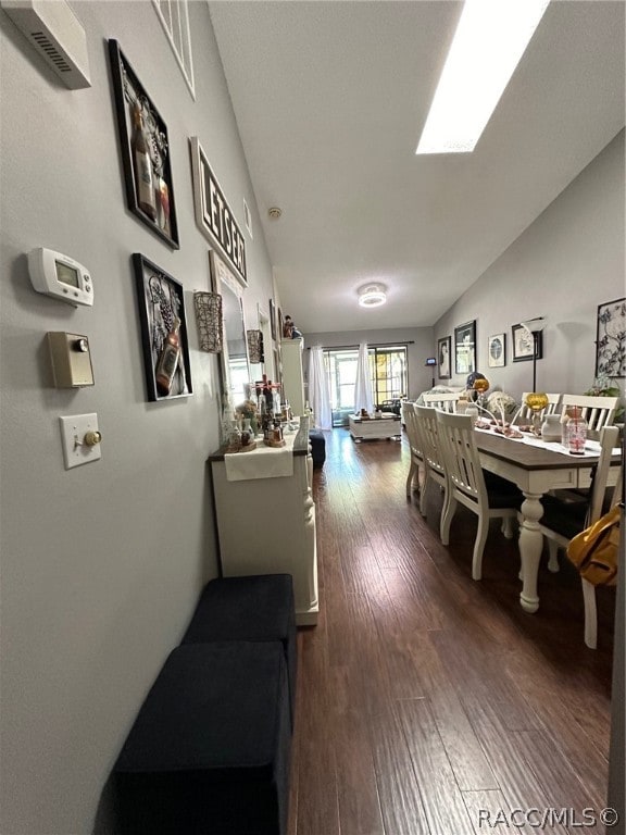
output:
<instances>
[{"instance_id":1,"label":"bright glass door panes at far end of room","mask_svg":"<svg viewBox=\"0 0 626 835\"><path fill-rule=\"evenodd\" d=\"M396 400L408 390L406 347L371 347L370 367L374 403ZM333 426L347 426L348 415L354 411L354 383L356 381L358 348L328 348L324 351L326 370L330 378L330 408Z\"/></svg>"}]
</instances>

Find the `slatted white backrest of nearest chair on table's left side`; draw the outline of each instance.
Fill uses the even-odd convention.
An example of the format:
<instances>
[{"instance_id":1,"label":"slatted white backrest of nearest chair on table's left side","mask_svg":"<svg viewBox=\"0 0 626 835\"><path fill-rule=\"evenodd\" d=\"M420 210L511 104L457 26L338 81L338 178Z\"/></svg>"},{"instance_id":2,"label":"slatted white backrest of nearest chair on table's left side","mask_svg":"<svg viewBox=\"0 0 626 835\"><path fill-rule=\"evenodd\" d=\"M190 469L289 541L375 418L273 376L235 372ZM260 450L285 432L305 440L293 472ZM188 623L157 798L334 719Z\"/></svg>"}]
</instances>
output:
<instances>
[{"instance_id":1,"label":"slatted white backrest of nearest chair on table's left side","mask_svg":"<svg viewBox=\"0 0 626 835\"><path fill-rule=\"evenodd\" d=\"M468 414L437 412L439 445L450 484L477 504L487 503L487 488Z\"/></svg>"}]
</instances>

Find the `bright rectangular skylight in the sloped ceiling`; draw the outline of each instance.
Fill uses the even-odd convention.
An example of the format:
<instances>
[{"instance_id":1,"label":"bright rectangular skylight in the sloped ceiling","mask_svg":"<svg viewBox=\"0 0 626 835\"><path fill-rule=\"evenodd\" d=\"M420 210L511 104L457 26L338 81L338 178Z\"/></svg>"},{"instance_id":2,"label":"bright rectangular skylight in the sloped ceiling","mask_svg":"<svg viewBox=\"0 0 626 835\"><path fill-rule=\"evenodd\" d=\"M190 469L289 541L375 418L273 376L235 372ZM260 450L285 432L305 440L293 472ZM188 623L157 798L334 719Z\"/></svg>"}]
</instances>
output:
<instances>
[{"instance_id":1,"label":"bright rectangular skylight in the sloped ceiling","mask_svg":"<svg viewBox=\"0 0 626 835\"><path fill-rule=\"evenodd\" d=\"M465 0L416 153L473 151L549 0Z\"/></svg>"}]
</instances>

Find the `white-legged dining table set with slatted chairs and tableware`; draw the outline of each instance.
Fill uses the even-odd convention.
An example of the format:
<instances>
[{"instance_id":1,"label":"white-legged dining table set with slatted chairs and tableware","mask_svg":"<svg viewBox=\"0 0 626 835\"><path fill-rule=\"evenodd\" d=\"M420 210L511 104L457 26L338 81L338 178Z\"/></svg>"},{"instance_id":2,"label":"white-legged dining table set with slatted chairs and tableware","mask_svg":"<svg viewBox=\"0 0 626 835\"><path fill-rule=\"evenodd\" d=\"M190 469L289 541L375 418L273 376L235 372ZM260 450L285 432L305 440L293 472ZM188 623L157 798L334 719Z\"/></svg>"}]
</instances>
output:
<instances>
[{"instance_id":1,"label":"white-legged dining table set with slatted chairs and tableware","mask_svg":"<svg viewBox=\"0 0 626 835\"><path fill-rule=\"evenodd\" d=\"M433 522L443 546L460 506L476 514L474 581L483 575L487 537L497 535L490 522L500 520L499 535L517 540L519 606L535 614L542 554L556 574L572 538L622 500L623 437L614 425L618 398L524 392L521 402L511 403L502 392L487 399L483 381L476 382L471 390L424 392L418 401L403 403L406 497L426 516L429 495L440 491L441 510ZM580 588L581 632L587 647L596 649L596 587L581 577Z\"/></svg>"}]
</instances>

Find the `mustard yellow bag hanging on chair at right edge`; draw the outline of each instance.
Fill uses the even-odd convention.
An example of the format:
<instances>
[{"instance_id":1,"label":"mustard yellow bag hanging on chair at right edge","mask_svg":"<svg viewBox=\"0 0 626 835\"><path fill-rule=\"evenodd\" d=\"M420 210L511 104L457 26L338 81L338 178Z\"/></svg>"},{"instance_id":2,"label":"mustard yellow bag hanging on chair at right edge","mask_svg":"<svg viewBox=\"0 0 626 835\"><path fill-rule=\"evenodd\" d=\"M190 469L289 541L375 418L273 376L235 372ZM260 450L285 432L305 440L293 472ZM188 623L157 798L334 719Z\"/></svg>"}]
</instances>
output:
<instances>
[{"instance_id":1,"label":"mustard yellow bag hanging on chair at right edge","mask_svg":"<svg viewBox=\"0 0 626 835\"><path fill-rule=\"evenodd\" d=\"M567 557L594 586L614 585L619 552L619 504L569 540Z\"/></svg>"}]
</instances>

